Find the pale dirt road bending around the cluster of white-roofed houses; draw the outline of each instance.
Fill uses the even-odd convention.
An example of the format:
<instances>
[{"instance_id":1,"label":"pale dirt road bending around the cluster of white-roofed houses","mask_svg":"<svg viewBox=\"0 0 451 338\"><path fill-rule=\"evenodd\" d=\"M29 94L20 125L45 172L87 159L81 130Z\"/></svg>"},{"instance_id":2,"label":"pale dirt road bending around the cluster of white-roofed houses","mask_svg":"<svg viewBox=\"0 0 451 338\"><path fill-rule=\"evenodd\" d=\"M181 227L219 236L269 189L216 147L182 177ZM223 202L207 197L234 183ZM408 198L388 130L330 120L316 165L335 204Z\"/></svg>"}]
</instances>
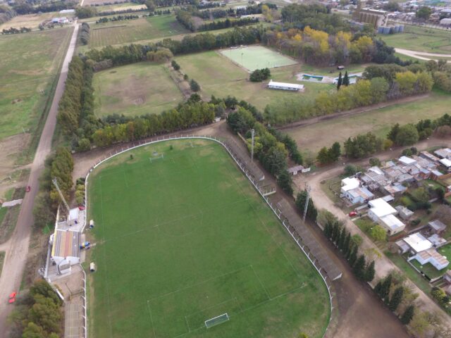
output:
<instances>
[{"instance_id":1,"label":"pale dirt road bending around the cluster of white-roofed houses","mask_svg":"<svg viewBox=\"0 0 451 338\"><path fill-rule=\"evenodd\" d=\"M443 140L443 139L429 139L424 142L419 142L416 144L416 148L418 149L427 149L431 146L442 146L442 145L451 145L451 140ZM401 149L396 149L394 151L385 151L382 154L378 154L378 158L381 160L387 160L390 158L395 158L397 156L400 156ZM354 164L367 164L368 160L363 161L357 161ZM374 244L369 237L362 232L362 230L355 225L352 220L350 220L349 217L342 211L341 208L338 206L335 206L333 201L331 201L328 196L323 192L321 189L321 181L327 180L331 177L336 177L340 175L344 170L344 165L338 165L335 168L330 168L327 170L323 170L319 173L314 173L312 175L308 176L298 176L295 178L295 184L297 187L304 187L305 183L308 182L309 186L311 187L311 197L316 204L316 206L319 206L319 208L325 208L328 211L332 212L334 215L336 215L338 218L342 219L345 222L345 226L347 227L347 230L351 232L351 234L359 234L360 237L363 239L362 243L362 249L376 249L377 251L381 252L376 244ZM382 252L381 252L382 253ZM381 256L381 258L376 259L376 278L375 281L385 277L390 270L400 270L397 268L395 263L390 261L384 254ZM445 313L445 311L440 308L434 301L432 301L424 292L421 291L416 285L409 281L409 283L412 285L414 292L419 294L419 297L417 299L417 302L419 303L419 307L424 311L430 311L431 313L437 312L443 315L443 318L447 320L447 325L451 329L451 321L449 320L449 317ZM393 337L395 337L393 335Z\"/></svg>"}]
</instances>

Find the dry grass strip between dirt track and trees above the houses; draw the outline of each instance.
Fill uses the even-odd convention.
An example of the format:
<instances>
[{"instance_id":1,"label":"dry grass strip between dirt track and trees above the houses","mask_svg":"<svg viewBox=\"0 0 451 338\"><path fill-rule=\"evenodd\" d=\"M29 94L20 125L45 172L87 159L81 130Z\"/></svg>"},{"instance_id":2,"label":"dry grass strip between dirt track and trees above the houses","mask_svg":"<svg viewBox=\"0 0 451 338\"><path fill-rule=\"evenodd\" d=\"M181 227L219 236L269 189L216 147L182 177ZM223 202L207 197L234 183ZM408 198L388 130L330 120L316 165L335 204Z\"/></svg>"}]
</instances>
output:
<instances>
[{"instance_id":1,"label":"dry grass strip between dirt track and trees above the houses","mask_svg":"<svg viewBox=\"0 0 451 338\"><path fill-rule=\"evenodd\" d=\"M417 123L421 119L438 118L449 113L451 96L434 92L430 97L421 101L361 113L358 115L321 121L307 127L285 130L292 137L304 153L316 153L323 146L331 146L333 142L345 142L348 137L357 134L373 132L380 137L386 137L390 127L395 123Z\"/></svg>"}]
</instances>

